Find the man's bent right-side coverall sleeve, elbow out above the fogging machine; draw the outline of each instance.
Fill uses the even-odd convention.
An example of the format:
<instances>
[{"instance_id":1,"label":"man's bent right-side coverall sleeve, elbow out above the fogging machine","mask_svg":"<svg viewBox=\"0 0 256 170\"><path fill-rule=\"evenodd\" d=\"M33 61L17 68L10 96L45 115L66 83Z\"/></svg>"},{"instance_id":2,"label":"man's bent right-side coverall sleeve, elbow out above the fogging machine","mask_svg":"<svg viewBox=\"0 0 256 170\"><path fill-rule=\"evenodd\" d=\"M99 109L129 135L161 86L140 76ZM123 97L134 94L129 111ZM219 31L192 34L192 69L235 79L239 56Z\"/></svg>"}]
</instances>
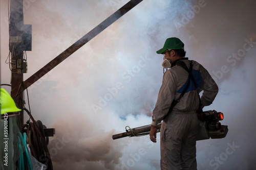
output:
<instances>
[{"instance_id":1,"label":"man's bent right-side coverall sleeve, elbow out above the fogging machine","mask_svg":"<svg viewBox=\"0 0 256 170\"><path fill-rule=\"evenodd\" d=\"M210 76L209 72L202 66L201 66L201 72L202 72L202 78L203 83L201 86L201 90L203 90L203 94L201 96L201 104L202 106L209 106L215 99L219 88Z\"/></svg>"}]
</instances>

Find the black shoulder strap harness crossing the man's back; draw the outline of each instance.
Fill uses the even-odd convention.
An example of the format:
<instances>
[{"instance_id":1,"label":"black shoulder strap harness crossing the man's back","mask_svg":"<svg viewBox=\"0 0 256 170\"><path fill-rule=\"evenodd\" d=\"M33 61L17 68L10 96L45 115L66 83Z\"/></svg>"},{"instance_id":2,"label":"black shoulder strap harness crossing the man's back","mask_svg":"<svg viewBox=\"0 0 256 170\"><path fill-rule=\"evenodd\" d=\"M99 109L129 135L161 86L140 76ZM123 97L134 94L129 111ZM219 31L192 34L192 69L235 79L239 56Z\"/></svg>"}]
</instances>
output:
<instances>
[{"instance_id":1,"label":"black shoulder strap harness crossing the man's back","mask_svg":"<svg viewBox=\"0 0 256 170\"><path fill-rule=\"evenodd\" d=\"M187 72L188 72L188 77L189 77L189 80L191 79L193 81L193 84L195 85L196 89L197 89L197 84L196 84L196 81L192 75L192 71L193 71L193 64L191 61L189 61L189 69L187 68L186 64L183 62L183 61L177 61L175 63L175 65L179 65L181 66L182 68L184 68ZM168 110L168 113L164 116L164 118L170 113L172 112L173 108L175 107L175 105L177 103L180 102L180 99L183 97L183 95L186 93L187 91L187 88L189 87L189 84L190 84L190 81L188 80L187 84L186 84L186 87L184 88L184 90L182 91L182 93L180 94L179 98L177 100L173 100L172 104L170 105L170 108ZM200 105L201 105L201 99L200 99L200 95L198 94L198 97L199 97L199 102L200 102ZM163 119L164 119L163 118Z\"/></svg>"}]
</instances>

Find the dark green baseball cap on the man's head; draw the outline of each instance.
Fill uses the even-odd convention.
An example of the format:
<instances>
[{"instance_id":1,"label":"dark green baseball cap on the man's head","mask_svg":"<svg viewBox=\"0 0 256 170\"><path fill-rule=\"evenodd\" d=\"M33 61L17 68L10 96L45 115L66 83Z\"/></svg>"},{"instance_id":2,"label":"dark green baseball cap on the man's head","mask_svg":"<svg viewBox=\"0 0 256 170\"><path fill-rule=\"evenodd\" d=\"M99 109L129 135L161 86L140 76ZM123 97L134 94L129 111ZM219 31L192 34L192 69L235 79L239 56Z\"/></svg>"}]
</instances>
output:
<instances>
[{"instance_id":1,"label":"dark green baseball cap on the man's head","mask_svg":"<svg viewBox=\"0 0 256 170\"><path fill-rule=\"evenodd\" d=\"M166 50L184 49L184 43L176 37L167 38L163 47L157 51L157 54L163 54Z\"/></svg>"}]
</instances>

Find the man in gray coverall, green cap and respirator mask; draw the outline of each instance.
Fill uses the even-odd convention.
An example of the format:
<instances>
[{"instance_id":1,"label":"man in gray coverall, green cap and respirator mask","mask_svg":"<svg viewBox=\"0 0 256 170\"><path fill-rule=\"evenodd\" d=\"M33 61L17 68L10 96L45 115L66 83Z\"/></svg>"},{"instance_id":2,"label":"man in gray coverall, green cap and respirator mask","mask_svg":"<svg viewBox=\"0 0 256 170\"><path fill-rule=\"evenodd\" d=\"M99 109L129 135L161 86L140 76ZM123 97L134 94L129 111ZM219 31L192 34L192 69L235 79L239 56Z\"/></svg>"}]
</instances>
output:
<instances>
[{"instance_id":1,"label":"man in gray coverall, green cap and respirator mask","mask_svg":"<svg viewBox=\"0 0 256 170\"><path fill-rule=\"evenodd\" d=\"M165 71L159 90L156 106L153 110L150 139L156 142L157 124L162 120L160 133L161 169L197 169L196 140L200 130L196 111L210 105L217 93L218 86L208 71L198 62L185 58L184 43L176 37L166 39L163 48L157 54L164 55L162 66L170 67ZM196 86L188 78L188 72L177 61L183 61L187 68L193 64L192 75ZM190 84L173 110L168 110ZM198 93L203 90L201 106Z\"/></svg>"}]
</instances>

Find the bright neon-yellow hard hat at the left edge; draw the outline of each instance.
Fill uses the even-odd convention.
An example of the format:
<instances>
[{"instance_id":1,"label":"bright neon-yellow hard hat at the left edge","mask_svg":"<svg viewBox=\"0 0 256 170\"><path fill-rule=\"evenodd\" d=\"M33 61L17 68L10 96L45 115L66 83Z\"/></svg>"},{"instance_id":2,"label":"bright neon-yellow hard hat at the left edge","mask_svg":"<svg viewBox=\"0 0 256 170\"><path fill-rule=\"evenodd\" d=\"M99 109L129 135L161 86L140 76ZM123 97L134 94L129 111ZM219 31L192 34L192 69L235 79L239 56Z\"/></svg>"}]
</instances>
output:
<instances>
[{"instance_id":1,"label":"bright neon-yellow hard hat at the left edge","mask_svg":"<svg viewBox=\"0 0 256 170\"><path fill-rule=\"evenodd\" d=\"M11 95L3 88L1 88L0 93L0 105L1 105L1 114L9 113L9 112L18 112L21 109L17 108L14 100Z\"/></svg>"}]
</instances>

